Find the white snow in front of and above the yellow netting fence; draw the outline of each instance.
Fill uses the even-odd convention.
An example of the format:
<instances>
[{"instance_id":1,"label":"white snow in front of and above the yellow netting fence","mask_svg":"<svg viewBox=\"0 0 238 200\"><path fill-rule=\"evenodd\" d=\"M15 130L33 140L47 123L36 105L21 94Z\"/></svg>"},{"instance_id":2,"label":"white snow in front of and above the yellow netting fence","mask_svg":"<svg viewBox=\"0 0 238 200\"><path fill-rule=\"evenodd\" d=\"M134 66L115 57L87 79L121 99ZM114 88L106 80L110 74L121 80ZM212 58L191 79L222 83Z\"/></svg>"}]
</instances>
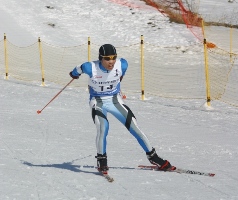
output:
<instances>
[{"instance_id":1,"label":"white snow in front of and above the yellow netting fence","mask_svg":"<svg viewBox=\"0 0 238 200\"><path fill-rule=\"evenodd\" d=\"M184 25L169 23L144 2L123 2L134 7L107 0L0 0L0 34L6 33L9 41L20 46L32 44L39 36L65 46L85 43L88 36L97 44L123 46L138 42L141 34L161 45L198 42ZM216 2L206 0L201 6L208 9ZM237 5L221 0L220 4ZM148 26L151 19L157 28ZM184 59L181 57L181 63ZM175 166L216 176L138 169L140 164L149 164L145 153L127 129L109 115L108 164L115 179L109 183L94 169L96 129L85 89L67 87L37 115L60 86L41 87L11 77L2 77L0 85L1 200L238 199L235 107L212 102L212 109L208 109L205 100L150 97L141 101L128 94L125 103L161 157Z\"/></svg>"}]
</instances>

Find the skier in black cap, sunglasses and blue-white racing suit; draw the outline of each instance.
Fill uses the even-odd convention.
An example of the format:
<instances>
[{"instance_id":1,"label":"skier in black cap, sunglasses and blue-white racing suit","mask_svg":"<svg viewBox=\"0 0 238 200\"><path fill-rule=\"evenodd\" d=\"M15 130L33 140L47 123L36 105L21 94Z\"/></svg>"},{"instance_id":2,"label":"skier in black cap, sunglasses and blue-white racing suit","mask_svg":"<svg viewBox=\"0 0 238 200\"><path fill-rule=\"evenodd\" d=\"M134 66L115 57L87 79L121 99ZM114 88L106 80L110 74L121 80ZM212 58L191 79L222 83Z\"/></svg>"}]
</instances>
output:
<instances>
[{"instance_id":1,"label":"skier in black cap, sunglasses and blue-white racing suit","mask_svg":"<svg viewBox=\"0 0 238 200\"><path fill-rule=\"evenodd\" d=\"M99 60L78 65L69 73L74 79L78 79L83 73L89 76L89 104L97 129L97 156L95 157L98 171L108 170L106 153L109 130L108 112L114 115L137 139L152 164L157 165L161 170L173 170L175 167L169 161L157 155L146 135L139 129L131 109L121 98L120 82L127 68L127 61L117 58L115 47L111 44L104 44L99 48Z\"/></svg>"}]
</instances>

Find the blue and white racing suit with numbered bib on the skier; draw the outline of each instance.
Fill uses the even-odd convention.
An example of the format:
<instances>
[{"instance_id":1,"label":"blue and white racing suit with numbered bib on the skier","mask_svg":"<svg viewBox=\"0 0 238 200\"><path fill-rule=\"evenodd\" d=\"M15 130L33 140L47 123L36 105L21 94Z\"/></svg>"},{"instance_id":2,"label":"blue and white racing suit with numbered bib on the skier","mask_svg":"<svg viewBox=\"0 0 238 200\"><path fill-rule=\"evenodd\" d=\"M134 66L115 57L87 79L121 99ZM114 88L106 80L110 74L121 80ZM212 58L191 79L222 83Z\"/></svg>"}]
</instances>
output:
<instances>
[{"instance_id":1,"label":"blue and white racing suit with numbered bib on the skier","mask_svg":"<svg viewBox=\"0 0 238 200\"><path fill-rule=\"evenodd\" d=\"M98 154L106 153L109 122L107 113L115 116L137 139L145 152L152 146L146 135L137 126L136 118L120 96L120 78L125 75L128 63L125 59L117 59L114 68L106 70L100 61L86 62L72 71L74 76L85 73L89 76L89 105L92 118L97 128L96 147Z\"/></svg>"}]
</instances>

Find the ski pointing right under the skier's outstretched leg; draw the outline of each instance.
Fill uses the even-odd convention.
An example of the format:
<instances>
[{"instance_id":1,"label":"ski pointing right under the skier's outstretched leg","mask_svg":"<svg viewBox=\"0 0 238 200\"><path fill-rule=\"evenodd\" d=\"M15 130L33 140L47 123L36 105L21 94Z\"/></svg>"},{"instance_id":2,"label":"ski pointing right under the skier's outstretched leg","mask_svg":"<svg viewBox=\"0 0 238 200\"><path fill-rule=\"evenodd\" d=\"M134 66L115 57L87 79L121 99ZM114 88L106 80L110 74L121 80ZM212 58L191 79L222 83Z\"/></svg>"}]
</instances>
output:
<instances>
[{"instance_id":1,"label":"ski pointing right under the skier's outstretched leg","mask_svg":"<svg viewBox=\"0 0 238 200\"><path fill-rule=\"evenodd\" d=\"M155 170L155 171L164 171L160 170L158 166L155 165L139 165L138 166L141 169L148 169L148 170ZM182 168L177 168L171 171L164 171L164 172L177 172L179 174L197 174L197 175L202 175L202 176L210 176L213 177L215 176L214 173L207 173L207 172L200 172L200 171L194 171L194 170L188 170L188 169L182 169Z\"/></svg>"}]
</instances>

